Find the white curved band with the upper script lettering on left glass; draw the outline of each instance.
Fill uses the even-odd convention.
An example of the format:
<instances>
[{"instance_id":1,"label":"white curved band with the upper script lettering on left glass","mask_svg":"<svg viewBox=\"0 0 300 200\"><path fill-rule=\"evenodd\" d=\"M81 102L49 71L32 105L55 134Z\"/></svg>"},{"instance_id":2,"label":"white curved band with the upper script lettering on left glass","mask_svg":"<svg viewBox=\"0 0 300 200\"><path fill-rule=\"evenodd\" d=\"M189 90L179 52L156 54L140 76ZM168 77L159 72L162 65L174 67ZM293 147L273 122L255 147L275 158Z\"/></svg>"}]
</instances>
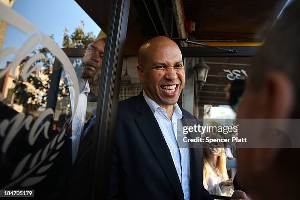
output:
<instances>
[{"instance_id":1,"label":"white curved band with the upper script lettering on left glass","mask_svg":"<svg viewBox=\"0 0 300 200\"><path fill-rule=\"evenodd\" d=\"M24 17L10 9L9 7L5 6L3 3L0 3L0 19L4 20L10 25L15 26L16 28L20 29L21 31L31 34L32 36L25 42L25 44L20 48L10 47L3 50L0 53L0 63L1 61L9 55L15 55L15 59L8 64L8 66L0 72L0 78L3 77L9 69L12 69L13 76L17 70L18 65L22 61L22 59L28 55L32 50L35 50L39 45L43 45L48 50L50 50L62 63L64 69L70 75L71 80L73 82L74 90L75 90L75 101L74 101L74 110L77 109L78 104L78 97L79 97L79 84L78 79L75 73L75 70L72 66L72 63L68 56L64 53L63 50L59 48L59 46L44 32L38 29L35 25L31 24L28 20ZM31 57L22 71L22 78L25 79L30 73L36 71L37 75L39 75L41 66L31 66L35 61L38 60L45 60L46 57L42 55L42 53L38 53ZM30 69L32 67L32 69ZM29 70L30 69L30 70ZM72 113L72 118L74 114Z\"/></svg>"}]
</instances>

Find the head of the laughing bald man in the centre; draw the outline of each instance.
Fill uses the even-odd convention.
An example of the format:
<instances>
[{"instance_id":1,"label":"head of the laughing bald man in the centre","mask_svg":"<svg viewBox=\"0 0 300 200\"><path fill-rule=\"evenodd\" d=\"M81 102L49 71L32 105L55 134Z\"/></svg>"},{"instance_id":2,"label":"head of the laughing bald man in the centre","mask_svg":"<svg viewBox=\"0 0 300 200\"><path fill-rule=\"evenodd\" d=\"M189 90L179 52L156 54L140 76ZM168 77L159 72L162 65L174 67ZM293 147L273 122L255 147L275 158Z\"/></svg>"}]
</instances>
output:
<instances>
[{"instance_id":1,"label":"head of the laughing bald man in the centre","mask_svg":"<svg viewBox=\"0 0 300 200\"><path fill-rule=\"evenodd\" d=\"M138 75L145 93L161 107L174 105L185 82L181 51L171 39L155 37L138 52Z\"/></svg>"}]
</instances>

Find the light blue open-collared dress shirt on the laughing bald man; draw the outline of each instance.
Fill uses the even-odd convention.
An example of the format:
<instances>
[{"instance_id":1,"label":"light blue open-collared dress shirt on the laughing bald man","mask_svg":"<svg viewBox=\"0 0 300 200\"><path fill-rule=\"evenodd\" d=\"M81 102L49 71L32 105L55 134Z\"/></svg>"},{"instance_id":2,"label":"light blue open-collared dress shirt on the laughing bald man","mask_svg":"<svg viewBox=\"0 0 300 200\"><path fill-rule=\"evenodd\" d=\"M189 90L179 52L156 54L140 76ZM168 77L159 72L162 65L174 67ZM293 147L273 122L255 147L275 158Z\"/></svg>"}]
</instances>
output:
<instances>
[{"instance_id":1,"label":"light blue open-collared dress shirt on the laughing bald man","mask_svg":"<svg viewBox=\"0 0 300 200\"><path fill-rule=\"evenodd\" d=\"M190 199L190 154L187 148L178 148L176 140L177 120L182 118L182 111L178 104L174 105L174 113L170 120L167 116L166 109L160 107L154 100L151 100L143 91L143 96L150 106L152 113L160 127L160 130L165 138L168 148L180 180L184 200ZM178 121L180 122L180 121Z\"/></svg>"}]
</instances>

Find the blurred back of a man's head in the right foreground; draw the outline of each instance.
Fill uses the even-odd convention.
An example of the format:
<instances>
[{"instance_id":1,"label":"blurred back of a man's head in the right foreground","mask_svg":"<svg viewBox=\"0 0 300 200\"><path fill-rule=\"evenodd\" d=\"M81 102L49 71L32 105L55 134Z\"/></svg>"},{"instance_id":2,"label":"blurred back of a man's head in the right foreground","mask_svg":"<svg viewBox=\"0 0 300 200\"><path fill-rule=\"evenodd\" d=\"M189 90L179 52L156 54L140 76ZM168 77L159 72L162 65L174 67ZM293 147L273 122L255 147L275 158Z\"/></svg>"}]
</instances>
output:
<instances>
[{"instance_id":1,"label":"blurred back of a man's head in the right foreground","mask_svg":"<svg viewBox=\"0 0 300 200\"><path fill-rule=\"evenodd\" d=\"M300 118L299 9L296 1L284 11L253 58L238 118ZM239 181L255 200L298 199L298 158L296 149L239 149Z\"/></svg>"}]
</instances>

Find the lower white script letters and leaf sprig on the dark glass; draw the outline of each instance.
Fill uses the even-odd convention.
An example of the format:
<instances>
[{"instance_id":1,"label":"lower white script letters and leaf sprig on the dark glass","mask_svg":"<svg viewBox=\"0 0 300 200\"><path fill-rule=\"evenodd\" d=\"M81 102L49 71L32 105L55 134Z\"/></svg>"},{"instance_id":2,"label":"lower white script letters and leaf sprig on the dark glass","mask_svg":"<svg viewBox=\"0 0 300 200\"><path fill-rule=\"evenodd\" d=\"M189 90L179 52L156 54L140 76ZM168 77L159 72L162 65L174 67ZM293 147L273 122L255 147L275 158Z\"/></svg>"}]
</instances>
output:
<instances>
[{"instance_id":1,"label":"lower white script letters and leaf sprig on the dark glass","mask_svg":"<svg viewBox=\"0 0 300 200\"><path fill-rule=\"evenodd\" d=\"M44 122L46 117L49 115L54 115L54 112L51 108L47 108L38 117L31 128L30 124L33 122L33 117L31 115L25 117L24 114L19 113L11 120L4 119L0 123L0 137L5 137L1 147L2 153L6 153L9 145L22 128L24 128L26 131L29 131L28 143L30 146L35 144L36 139L42 131L44 133L44 137L49 139L48 133L50 122ZM68 123L69 122L66 122L64 126L66 126ZM58 155L59 149L65 142L62 140L65 130L66 129L63 128L63 131L60 134L56 134L51 141L47 142L47 145L44 148L38 150L36 153L28 153L15 168L13 174L11 175L11 182L2 188L11 188L17 183L20 183L21 187L29 187L43 180L47 176L47 174L45 175L44 173L47 172L52 166L54 158ZM6 132L8 133L5 135ZM25 166L28 166L29 163L29 169L25 170Z\"/></svg>"}]
</instances>

